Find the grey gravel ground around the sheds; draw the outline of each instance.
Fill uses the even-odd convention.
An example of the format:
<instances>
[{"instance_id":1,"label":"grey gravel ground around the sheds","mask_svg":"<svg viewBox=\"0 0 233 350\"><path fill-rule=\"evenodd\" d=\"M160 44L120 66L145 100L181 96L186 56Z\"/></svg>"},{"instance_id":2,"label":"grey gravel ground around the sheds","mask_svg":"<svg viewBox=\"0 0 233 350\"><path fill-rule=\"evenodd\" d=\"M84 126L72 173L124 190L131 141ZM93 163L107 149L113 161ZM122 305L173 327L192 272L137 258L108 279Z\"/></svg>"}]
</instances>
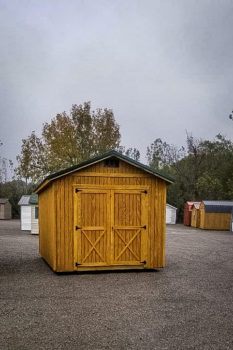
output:
<instances>
[{"instance_id":1,"label":"grey gravel ground around the sheds","mask_svg":"<svg viewBox=\"0 0 233 350\"><path fill-rule=\"evenodd\" d=\"M167 265L57 275L0 221L0 349L233 349L233 234L167 227Z\"/></svg>"}]
</instances>

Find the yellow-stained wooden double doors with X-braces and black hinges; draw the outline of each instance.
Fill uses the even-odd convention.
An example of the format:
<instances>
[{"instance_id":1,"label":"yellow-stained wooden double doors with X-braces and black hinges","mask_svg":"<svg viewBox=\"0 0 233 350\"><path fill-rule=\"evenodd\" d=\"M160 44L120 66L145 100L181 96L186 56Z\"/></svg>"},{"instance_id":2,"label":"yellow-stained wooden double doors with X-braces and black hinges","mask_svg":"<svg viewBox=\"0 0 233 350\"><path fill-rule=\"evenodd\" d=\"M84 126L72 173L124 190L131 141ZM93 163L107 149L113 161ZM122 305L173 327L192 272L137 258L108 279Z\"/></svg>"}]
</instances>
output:
<instances>
[{"instance_id":1,"label":"yellow-stained wooden double doors with X-braces and black hinges","mask_svg":"<svg viewBox=\"0 0 233 350\"><path fill-rule=\"evenodd\" d=\"M77 269L145 266L147 190L77 187L74 208L74 264Z\"/></svg>"}]
</instances>

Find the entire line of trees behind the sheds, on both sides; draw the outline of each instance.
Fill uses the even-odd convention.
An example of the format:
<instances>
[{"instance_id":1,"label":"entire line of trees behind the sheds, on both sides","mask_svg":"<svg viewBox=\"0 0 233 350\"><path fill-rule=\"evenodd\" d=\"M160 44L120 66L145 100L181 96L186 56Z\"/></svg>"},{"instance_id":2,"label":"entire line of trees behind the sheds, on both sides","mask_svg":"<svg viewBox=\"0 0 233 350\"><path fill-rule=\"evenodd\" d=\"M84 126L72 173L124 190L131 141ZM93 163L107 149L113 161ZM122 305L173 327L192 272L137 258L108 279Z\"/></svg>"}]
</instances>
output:
<instances>
[{"instance_id":1,"label":"entire line of trees behind the sheds, on both sides","mask_svg":"<svg viewBox=\"0 0 233 350\"><path fill-rule=\"evenodd\" d=\"M3 162L0 154L0 197L10 199L17 216L20 196L31 193L46 175L111 149L140 160L137 148L121 145L120 126L111 109L92 111L90 102L75 104L69 113L44 123L41 135L32 131L22 140L12 181L4 178L12 162ZM147 147L146 158L149 166L175 179L168 186L167 202L178 208L180 219L187 200L233 199L233 143L221 134L212 141L187 134L180 148L157 138Z\"/></svg>"}]
</instances>

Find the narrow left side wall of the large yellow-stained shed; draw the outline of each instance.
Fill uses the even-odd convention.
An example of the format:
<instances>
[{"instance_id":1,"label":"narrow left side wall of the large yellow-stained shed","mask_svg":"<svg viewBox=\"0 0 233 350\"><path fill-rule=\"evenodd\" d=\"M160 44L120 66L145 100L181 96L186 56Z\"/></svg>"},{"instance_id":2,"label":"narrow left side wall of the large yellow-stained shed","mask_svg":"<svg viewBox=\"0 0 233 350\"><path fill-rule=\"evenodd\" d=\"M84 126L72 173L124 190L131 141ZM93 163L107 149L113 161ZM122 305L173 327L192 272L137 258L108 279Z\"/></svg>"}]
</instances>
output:
<instances>
[{"instance_id":1,"label":"narrow left side wall of the large yellow-stained shed","mask_svg":"<svg viewBox=\"0 0 233 350\"><path fill-rule=\"evenodd\" d=\"M40 254L56 270L56 226L54 211L54 185L39 195Z\"/></svg>"}]
</instances>

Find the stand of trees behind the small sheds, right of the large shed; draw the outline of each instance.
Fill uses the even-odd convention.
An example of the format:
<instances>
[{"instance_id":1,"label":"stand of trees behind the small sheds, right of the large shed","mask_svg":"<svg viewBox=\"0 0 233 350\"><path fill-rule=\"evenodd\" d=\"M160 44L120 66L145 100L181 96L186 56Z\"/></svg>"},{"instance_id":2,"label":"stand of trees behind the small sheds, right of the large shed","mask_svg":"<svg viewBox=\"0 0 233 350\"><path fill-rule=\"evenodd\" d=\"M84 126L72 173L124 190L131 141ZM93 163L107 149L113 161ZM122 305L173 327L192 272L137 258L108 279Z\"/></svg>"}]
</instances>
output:
<instances>
[{"instance_id":1,"label":"stand of trees behind the small sheds, right of the large shed","mask_svg":"<svg viewBox=\"0 0 233 350\"><path fill-rule=\"evenodd\" d=\"M156 139L147 148L147 159L174 177L167 201L178 208L179 219L186 201L233 200L233 143L221 134L212 141L187 134L181 148Z\"/></svg>"}]
</instances>

